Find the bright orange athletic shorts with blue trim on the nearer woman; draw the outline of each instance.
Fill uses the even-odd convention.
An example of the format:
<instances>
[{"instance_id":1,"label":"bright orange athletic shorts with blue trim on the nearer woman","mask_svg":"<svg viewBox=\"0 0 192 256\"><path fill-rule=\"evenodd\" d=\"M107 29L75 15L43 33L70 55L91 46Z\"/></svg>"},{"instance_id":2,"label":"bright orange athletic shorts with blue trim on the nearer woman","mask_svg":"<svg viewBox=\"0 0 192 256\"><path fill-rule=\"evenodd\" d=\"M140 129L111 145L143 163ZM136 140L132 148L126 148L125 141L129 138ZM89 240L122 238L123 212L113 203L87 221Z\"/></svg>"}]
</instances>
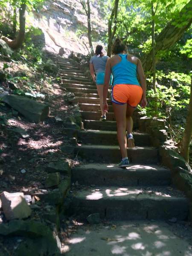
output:
<instances>
[{"instance_id":1,"label":"bright orange athletic shorts with blue trim on the nearer woman","mask_svg":"<svg viewBox=\"0 0 192 256\"><path fill-rule=\"evenodd\" d=\"M134 84L115 84L112 88L111 101L123 105L128 104L131 107L137 107L143 96L143 89Z\"/></svg>"}]
</instances>

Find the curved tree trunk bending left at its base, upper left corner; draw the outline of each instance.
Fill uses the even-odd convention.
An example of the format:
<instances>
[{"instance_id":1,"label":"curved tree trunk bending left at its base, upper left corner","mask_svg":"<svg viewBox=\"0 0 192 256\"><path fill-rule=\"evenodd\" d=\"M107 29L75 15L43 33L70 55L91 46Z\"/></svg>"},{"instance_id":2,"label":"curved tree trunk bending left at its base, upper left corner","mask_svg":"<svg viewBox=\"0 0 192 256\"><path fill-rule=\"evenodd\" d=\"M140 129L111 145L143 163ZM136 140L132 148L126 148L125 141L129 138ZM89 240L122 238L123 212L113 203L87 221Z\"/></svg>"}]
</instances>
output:
<instances>
[{"instance_id":1,"label":"curved tree trunk bending left at its base, upper left corner","mask_svg":"<svg viewBox=\"0 0 192 256\"><path fill-rule=\"evenodd\" d=\"M17 35L17 38L14 40L10 40L9 38L2 37L2 39L6 41L9 47L11 47L12 49L20 48L25 39L25 10L26 4L22 3L19 8L19 33Z\"/></svg>"}]
</instances>

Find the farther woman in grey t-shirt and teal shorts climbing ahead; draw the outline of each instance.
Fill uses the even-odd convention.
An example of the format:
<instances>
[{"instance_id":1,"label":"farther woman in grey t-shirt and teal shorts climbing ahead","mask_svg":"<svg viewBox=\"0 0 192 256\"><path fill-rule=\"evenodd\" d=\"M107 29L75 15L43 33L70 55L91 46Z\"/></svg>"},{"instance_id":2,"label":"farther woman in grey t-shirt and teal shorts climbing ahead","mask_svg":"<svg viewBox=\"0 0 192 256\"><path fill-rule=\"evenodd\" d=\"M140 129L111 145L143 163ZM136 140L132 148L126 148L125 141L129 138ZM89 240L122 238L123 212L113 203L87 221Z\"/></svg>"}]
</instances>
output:
<instances>
[{"instance_id":1,"label":"farther woman in grey t-shirt and teal shorts climbing ahead","mask_svg":"<svg viewBox=\"0 0 192 256\"><path fill-rule=\"evenodd\" d=\"M90 58L90 74L93 77L93 81L96 82L97 92L99 95L99 102L101 108L101 118L100 121L106 120L106 112L103 110L103 86L105 77L105 67L108 56L104 56L102 45L96 46L95 55ZM96 77L95 77L96 73ZM110 76L110 85L112 84L112 76Z\"/></svg>"}]
</instances>

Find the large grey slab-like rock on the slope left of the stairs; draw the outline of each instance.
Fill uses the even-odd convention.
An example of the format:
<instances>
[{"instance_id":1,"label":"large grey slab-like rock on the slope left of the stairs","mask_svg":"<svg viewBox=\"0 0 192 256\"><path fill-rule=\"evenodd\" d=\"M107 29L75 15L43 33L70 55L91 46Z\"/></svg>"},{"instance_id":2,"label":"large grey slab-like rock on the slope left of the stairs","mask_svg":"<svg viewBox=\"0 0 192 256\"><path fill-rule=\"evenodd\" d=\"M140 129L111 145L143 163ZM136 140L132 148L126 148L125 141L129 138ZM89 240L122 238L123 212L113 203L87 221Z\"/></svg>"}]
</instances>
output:
<instances>
[{"instance_id":1,"label":"large grey slab-like rock on the slope left of the stairs","mask_svg":"<svg viewBox=\"0 0 192 256\"><path fill-rule=\"evenodd\" d=\"M31 122L43 121L49 114L47 105L23 96L7 95L3 97L3 102L20 112Z\"/></svg>"}]
</instances>

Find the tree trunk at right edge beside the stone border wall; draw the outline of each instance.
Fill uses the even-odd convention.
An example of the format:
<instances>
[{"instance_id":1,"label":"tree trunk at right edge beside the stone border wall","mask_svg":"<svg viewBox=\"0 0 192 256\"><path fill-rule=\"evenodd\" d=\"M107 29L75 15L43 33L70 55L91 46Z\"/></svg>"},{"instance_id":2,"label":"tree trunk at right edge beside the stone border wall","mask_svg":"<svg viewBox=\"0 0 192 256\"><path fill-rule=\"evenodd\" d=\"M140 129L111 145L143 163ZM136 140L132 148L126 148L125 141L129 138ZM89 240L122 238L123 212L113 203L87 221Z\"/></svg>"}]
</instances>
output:
<instances>
[{"instance_id":1,"label":"tree trunk at right edge beside the stone border wall","mask_svg":"<svg viewBox=\"0 0 192 256\"><path fill-rule=\"evenodd\" d=\"M191 93L189 100L189 109L186 118L185 131L183 134L183 139L180 143L181 152L180 154L185 158L186 162L189 163L189 145L192 140L192 80L191 80Z\"/></svg>"}]
</instances>

